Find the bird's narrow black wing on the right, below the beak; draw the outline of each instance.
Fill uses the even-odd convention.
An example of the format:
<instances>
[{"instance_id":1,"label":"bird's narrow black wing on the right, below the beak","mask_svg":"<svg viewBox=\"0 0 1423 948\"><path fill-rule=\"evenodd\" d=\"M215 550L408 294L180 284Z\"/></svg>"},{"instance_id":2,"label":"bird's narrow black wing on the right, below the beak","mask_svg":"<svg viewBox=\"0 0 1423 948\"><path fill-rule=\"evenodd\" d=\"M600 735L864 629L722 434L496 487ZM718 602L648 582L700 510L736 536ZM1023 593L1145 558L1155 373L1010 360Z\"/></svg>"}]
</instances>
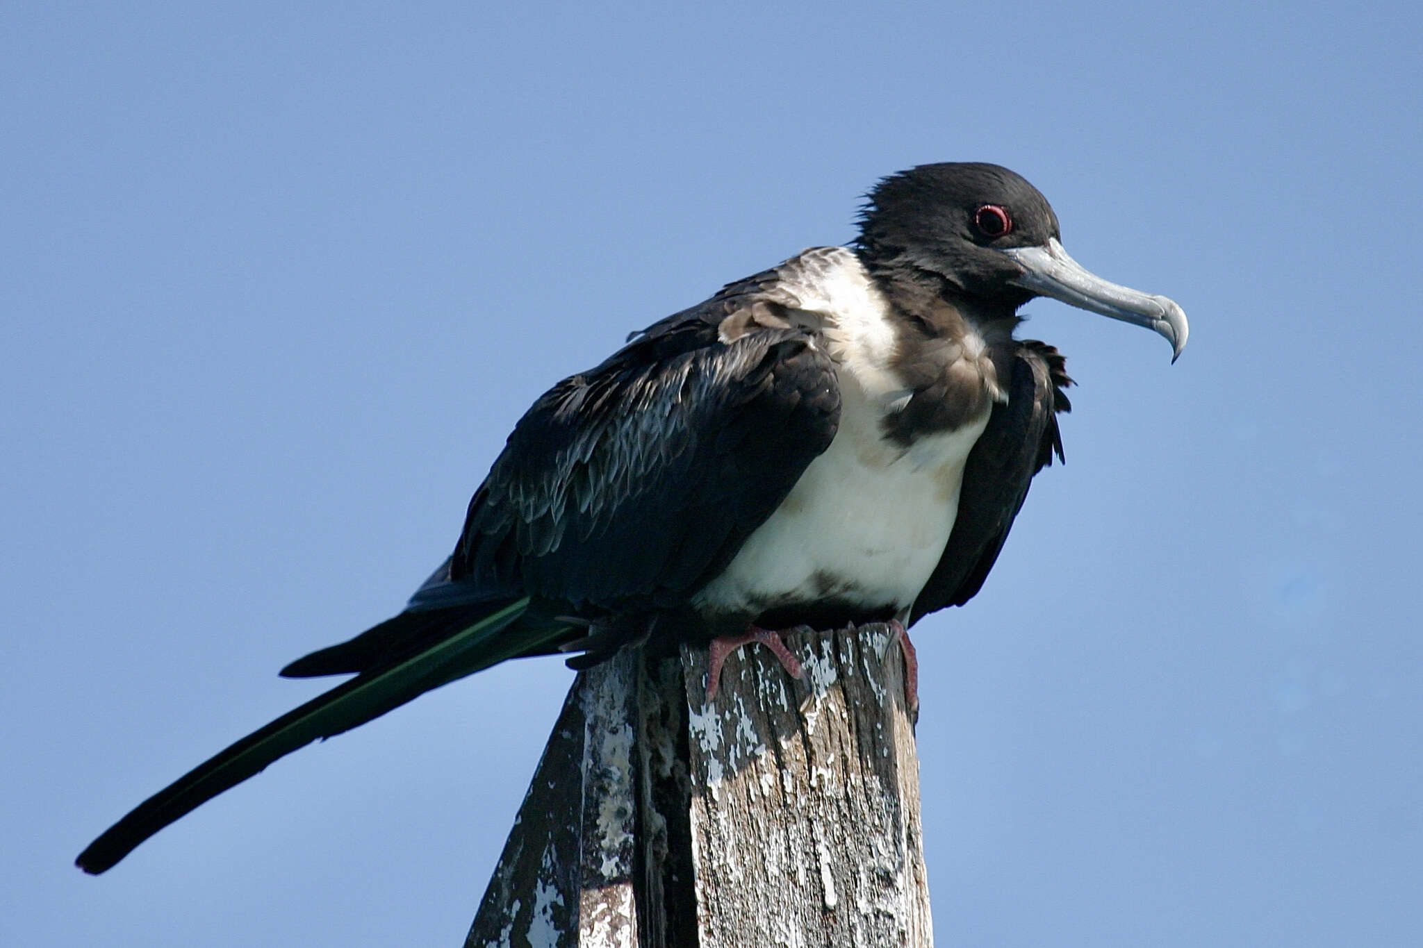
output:
<instances>
[{"instance_id":1,"label":"bird's narrow black wing on the right, below the beak","mask_svg":"<svg viewBox=\"0 0 1423 948\"><path fill-rule=\"evenodd\" d=\"M1017 344L1009 401L993 406L988 428L969 452L953 532L914 603L911 623L946 605L962 605L982 588L1033 475L1049 466L1054 453L1063 459L1056 415L1072 409L1063 391L1072 379L1063 362L1050 345Z\"/></svg>"}]
</instances>

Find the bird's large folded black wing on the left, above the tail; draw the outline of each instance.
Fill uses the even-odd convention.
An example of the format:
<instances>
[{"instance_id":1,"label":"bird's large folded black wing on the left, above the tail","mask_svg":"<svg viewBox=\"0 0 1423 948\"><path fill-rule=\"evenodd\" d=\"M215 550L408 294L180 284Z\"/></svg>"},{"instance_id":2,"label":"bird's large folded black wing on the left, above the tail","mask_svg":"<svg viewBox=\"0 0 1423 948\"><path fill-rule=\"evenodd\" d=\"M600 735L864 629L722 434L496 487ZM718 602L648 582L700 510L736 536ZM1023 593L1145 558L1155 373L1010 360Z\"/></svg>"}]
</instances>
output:
<instances>
[{"instance_id":1,"label":"bird's large folded black wing on the left, above the tail","mask_svg":"<svg viewBox=\"0 0 1423 948\"><path fill-rule=\"evenodd\" d=\"M830 446L834 364L774 273L559 382L470 503L451 577L575 610L670 608L714 577Z\"/></svg>"}]
</instances>

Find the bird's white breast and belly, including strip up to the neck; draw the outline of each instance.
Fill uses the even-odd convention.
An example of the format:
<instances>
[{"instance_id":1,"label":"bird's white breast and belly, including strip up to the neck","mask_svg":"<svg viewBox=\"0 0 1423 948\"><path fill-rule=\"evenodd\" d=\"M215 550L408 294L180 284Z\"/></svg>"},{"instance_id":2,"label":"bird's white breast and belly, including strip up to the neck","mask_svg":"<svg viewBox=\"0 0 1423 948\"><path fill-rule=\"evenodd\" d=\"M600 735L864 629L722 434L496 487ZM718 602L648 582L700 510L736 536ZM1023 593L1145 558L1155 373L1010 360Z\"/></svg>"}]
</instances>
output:
<instances>
[{"instance_id":1,"label":"bird's white breast and belly, including strip up to the neck","mask_svg":"<svg viewBox=\"0 0 1423 948\"><path fill-rule=\"evenodd\" d=\"M881 421L905 394L889 367L888 307L858 260L841 260L815 287L798 287L838 364L840 429L694 607L760 613L834 598L906 610L943 554L988 415L909 449L884 439Z\"/></svg>"}]
</instances>

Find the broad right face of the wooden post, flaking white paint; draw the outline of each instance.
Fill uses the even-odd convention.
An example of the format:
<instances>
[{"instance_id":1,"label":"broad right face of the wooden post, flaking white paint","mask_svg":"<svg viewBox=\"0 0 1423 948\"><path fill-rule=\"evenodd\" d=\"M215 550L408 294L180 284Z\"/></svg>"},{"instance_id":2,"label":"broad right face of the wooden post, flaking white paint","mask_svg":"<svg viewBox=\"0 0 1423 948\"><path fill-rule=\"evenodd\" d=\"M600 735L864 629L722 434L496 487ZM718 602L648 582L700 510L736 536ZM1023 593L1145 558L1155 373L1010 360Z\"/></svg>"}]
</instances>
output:
<instances>
[{"instance_id":1,"label":"broad right face of the wooden post, flaking white paint","mask_svg":"<svg viewBox=\"0 0 1423 948\"><path fill-rule=\"evenodd\" d=\"M899 650L882 625L787 638L801 681L743 650L713 704L683 651L700 944L931 945Z\"/></svg>"}]
</instances>

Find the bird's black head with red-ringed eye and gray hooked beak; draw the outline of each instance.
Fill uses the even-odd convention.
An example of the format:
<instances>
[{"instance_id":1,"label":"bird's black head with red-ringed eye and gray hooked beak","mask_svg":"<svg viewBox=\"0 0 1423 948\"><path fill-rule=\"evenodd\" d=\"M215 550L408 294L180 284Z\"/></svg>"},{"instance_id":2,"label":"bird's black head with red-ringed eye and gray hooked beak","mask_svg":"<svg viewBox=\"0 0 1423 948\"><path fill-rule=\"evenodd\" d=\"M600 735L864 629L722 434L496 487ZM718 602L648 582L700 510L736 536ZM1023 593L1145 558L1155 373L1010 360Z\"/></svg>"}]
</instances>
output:
<instances>
[{"instance_id":1,"label":"bird's black head with red-ringed eye and gray hooked beak","mask_svg":"<svg viewBox=\"0 0 1423 948\"><path fill-rule=\"evenodd\" d=\"M891 175L869 192L859 232L868 257L933 274L990 310L1050 296L1160 333L1173 360L1185 348L1180 306L1083 269L1063 250L1042 192L999 165L943 162Z\"/></svg>"}]
</instances>

